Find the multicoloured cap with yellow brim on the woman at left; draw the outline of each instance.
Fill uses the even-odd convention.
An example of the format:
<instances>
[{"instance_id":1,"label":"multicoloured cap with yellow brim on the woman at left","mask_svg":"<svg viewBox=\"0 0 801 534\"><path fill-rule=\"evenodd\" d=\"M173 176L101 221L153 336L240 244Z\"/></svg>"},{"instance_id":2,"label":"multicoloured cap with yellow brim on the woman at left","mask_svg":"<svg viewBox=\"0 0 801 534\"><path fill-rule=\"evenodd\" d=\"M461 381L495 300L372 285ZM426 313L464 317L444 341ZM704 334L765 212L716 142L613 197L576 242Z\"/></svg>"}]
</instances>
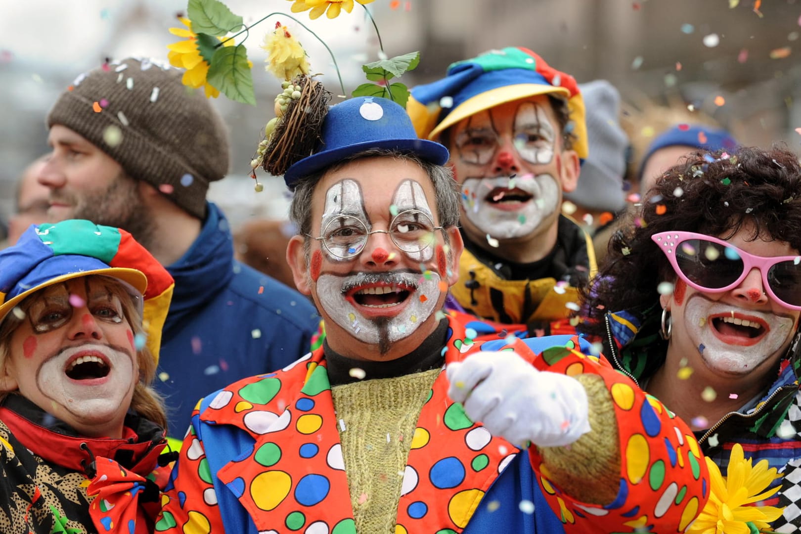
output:
<instances>
[{"instance_id":1,"label":"multicoloured cap with yellow brim on the woman at left","mask_svg":"<svg viewBox=\"0 0 801 534\"><path fill-rule=\"evenodd\" d=\"M121 228L79 219L31 225L17 244L0 251L0 322L26 296L87 275L111 276L144 296L139 307L147 347L159 363L161 330L175 283L151 253Z\"/></svg>"}]
</instances>

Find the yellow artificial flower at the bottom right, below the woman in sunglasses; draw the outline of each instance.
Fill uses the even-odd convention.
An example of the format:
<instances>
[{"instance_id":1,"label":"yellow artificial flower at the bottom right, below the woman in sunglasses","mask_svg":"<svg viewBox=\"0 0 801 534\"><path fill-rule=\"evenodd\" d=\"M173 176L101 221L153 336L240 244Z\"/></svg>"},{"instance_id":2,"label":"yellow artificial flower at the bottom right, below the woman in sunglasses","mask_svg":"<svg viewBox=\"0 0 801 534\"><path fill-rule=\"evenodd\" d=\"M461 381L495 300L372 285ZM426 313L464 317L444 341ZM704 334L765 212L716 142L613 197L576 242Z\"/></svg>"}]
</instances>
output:
<instances>
[{"instance_id":1,"label":"yellow artificial flower at the bottom right, below the woman in sunglasses","mask_svg":"<svg viewBox=\"0 0 801 534\"><path fill-rule=\"evenodd\" d=\"M686 532L690 534L749 534L770 532L771 522L779 519L783 508L754 506L779 491L780 486L764 491L781 478L776 469L767 468L767 460L751 467L751 458L743 458L743 447L731 449L728 476L723 477L712 460L706 458L710 475L710 496L698 518Z\"/></svg>"}]
</instances>

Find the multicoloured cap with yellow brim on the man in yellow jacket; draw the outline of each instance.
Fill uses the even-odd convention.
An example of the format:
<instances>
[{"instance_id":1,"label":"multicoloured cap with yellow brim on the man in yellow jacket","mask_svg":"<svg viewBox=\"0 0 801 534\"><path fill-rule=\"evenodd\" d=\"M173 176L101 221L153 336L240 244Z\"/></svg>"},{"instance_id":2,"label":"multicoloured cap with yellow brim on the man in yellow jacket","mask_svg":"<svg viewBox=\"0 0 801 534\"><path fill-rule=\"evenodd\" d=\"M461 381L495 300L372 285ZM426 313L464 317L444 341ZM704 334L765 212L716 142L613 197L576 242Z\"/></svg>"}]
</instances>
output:
<instances>
[{"instance_id":1,"label":"multicoloured cap with yellow brim on the man in yellow jacket","mask_svg":"<svg viewBox=\"0 0 801 534\"><path fill-rule=\"evenodd\" d=\"M406 111L421 139L437 139L443 130L463 118L538 94L567 99L572 122L568 127L572 127L575 136L573 150L585 159L584 100L576 80L521 46L490 50L477 58L451 64L445 78L413 88Z\"/></svg>"}]
</instances>

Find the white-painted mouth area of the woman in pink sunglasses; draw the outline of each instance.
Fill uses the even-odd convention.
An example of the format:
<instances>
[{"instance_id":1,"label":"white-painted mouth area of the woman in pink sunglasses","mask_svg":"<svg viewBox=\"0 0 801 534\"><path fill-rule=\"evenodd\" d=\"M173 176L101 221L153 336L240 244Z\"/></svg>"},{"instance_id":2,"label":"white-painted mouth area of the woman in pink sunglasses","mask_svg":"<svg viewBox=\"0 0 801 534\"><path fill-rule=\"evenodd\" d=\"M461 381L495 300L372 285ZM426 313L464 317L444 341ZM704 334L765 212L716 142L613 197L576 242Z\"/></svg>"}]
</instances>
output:
<instances>
[{"instance_id":1,"label":"white-painted mouth area of the woman in pink sunglasses","mask_svg":"<svg viewBox=\"0 0 801 534\"><path fill-rule=\"evenodd\" d=\"M688 296L684 315L686 334L706 365L727 375L747 375L795 334L791 315L734 307L700 292Z\"/></svg>"}]
</instances>

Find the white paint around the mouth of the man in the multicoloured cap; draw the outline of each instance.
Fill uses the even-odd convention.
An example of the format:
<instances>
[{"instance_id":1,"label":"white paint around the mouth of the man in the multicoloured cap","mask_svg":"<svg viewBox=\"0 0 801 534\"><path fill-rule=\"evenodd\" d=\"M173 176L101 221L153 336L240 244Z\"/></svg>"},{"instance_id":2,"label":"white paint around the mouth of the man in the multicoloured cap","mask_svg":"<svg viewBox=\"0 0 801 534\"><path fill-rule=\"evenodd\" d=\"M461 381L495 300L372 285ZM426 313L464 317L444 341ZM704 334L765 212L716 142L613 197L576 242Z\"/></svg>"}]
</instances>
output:
<instances>
[{"instance_id":1,"label":"white paint around the mouth of the man in the multicoloured cap","mask_svg":"<svg viewBox=\"0 0 801 534\"><path fill-rule=\"evenodd\" d=\"M500 209L486 199L486 194L495 187L507 187L509 179L505 177L491 179L469 178L465 180L463 190L474 191L472 195L462 195L462 207L465 217L477 227L482 234L489 234L496 239L514 239L531 234L550 215L557 210L559 201L559 184L551 175L538 175L526 179L515 179L517 188L532 195L525 203L506 205Z\"/></svg>"}]
</instances>

